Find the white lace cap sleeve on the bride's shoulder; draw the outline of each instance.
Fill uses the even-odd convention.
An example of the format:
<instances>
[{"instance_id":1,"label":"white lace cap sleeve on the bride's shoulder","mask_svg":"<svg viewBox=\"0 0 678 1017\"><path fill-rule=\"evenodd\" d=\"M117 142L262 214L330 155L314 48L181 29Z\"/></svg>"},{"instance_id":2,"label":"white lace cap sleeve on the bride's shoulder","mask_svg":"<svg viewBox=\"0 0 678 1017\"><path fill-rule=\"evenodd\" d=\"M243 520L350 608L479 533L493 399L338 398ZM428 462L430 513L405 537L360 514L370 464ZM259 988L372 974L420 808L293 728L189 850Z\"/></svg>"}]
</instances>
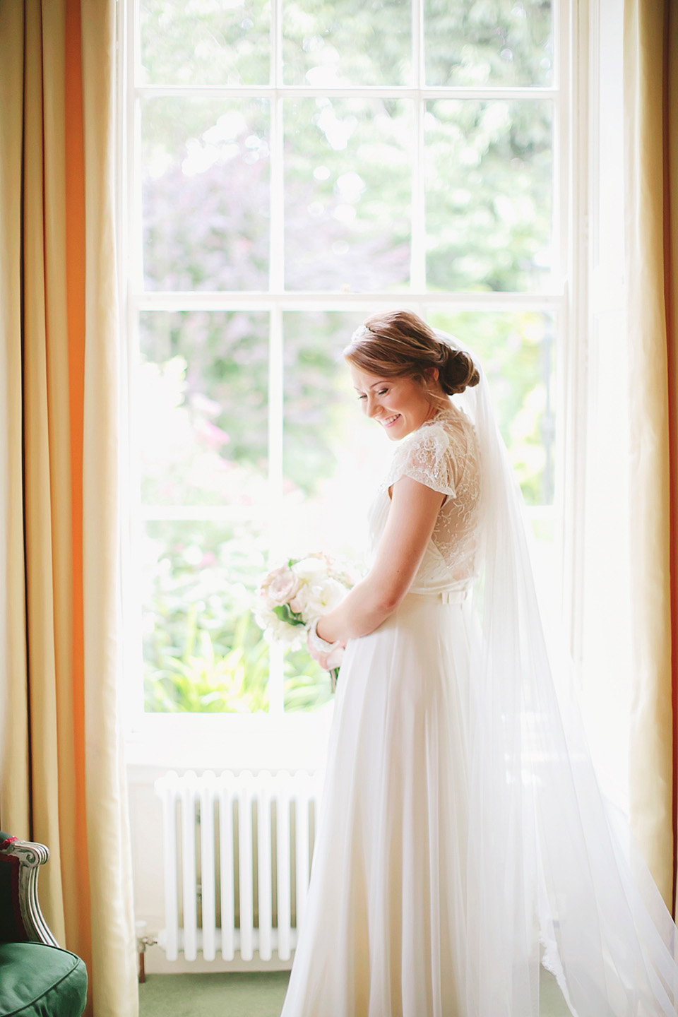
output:
<instances>
[{"instance_id":1,"label":"white lace cap sleeve on the bride's shoulder","mask_svg":"<svg viewBox=\"0 0 678 1017\"><path fill-rule=\"evenodd\" d=\"M456 497L456 457L451 435L440 424L429 424L409 435L395 450L382 483L388 489L400 477L412 477L426 487Z\"/></svg>"}]
</instances>

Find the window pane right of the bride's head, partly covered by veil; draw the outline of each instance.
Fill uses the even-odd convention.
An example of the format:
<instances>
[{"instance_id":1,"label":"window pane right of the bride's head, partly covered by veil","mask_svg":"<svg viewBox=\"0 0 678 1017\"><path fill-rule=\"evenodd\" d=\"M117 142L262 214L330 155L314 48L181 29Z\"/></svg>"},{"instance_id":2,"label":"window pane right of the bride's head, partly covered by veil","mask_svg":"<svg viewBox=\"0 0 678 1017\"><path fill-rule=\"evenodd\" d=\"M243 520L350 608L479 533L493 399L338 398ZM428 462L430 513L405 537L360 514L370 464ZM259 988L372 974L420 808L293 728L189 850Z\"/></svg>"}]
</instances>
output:
<instances>
[{"instance_id":1,"label":"window pane right of the bride's head, partly covered by veil","mask_svg":"<svg viewBox=\"0 0 678 1017\"><path fill-rule=\"evenodd\" d=\"M529 505L552 504L554 315L543 311L436 311L428 320L478 353L526 501Z\"/></svg>"}]
</instances>

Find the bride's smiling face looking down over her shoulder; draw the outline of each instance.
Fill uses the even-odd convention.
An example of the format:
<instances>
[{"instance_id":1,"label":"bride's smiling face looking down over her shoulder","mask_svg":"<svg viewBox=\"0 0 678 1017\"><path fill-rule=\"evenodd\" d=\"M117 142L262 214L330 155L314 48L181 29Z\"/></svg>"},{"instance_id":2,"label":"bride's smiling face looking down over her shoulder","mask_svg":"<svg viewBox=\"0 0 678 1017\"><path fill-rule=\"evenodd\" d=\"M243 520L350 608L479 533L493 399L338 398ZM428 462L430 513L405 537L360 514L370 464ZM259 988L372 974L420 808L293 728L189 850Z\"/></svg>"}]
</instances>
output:
<instances>
[{"instance_id":1,"label":"bride's smiling face looking down over her shoulder","mask_svg":"<svg viewBox=\"0 0 678 1017\"><path fill-rule=\"evenodd\" d=\"M392 441L404 438L435 413L414 378L383 378L349 364L363 412L384 428Z\"/></svg>"}]
</instances>

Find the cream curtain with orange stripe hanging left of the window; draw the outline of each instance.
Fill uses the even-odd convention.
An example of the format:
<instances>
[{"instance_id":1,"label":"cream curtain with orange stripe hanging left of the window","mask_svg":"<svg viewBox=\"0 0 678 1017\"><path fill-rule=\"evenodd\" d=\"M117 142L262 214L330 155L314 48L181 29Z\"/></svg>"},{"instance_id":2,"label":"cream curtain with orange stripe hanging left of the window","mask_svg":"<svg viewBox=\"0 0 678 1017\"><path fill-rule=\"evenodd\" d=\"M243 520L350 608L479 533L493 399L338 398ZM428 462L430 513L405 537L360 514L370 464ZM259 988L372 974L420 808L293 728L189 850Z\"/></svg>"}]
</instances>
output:
<instances>
[{"instance_id":1,"label":"cream curtain with orange stripe hanging left of the window","mask_svg":"<svg viewBox=\"0 0 678 1017\"><path fill-rule=\"evenodd\" d=\"M122 759L114 0L0 4L0 827L88 1012L137 1012Z\"/></svg>"}]
</instances>

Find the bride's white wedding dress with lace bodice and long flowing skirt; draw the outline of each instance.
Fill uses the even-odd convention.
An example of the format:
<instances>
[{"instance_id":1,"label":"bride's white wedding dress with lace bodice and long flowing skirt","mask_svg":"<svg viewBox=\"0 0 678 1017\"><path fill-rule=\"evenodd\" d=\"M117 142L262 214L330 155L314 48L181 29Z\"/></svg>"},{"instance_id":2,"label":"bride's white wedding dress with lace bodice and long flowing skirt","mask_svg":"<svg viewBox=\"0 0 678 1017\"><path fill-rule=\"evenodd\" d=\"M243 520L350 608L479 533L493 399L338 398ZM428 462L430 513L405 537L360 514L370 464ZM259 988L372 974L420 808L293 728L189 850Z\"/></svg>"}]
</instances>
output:
<instances>
[{"instance_id":1,"label":"bride's white wedding dress with lace bodice and long flowing skirt","mask_svg":"<svg viewBox=\"0 0 678 1017\"><path fill-rule=\"evenodd\" d=\"M396 447L370 513L373 552L389 487L406 475L446 499L410 592L346 649L282 1017L466 1017L480 477L460 410L450 404Z\"/></svg>"}]
</instances>

